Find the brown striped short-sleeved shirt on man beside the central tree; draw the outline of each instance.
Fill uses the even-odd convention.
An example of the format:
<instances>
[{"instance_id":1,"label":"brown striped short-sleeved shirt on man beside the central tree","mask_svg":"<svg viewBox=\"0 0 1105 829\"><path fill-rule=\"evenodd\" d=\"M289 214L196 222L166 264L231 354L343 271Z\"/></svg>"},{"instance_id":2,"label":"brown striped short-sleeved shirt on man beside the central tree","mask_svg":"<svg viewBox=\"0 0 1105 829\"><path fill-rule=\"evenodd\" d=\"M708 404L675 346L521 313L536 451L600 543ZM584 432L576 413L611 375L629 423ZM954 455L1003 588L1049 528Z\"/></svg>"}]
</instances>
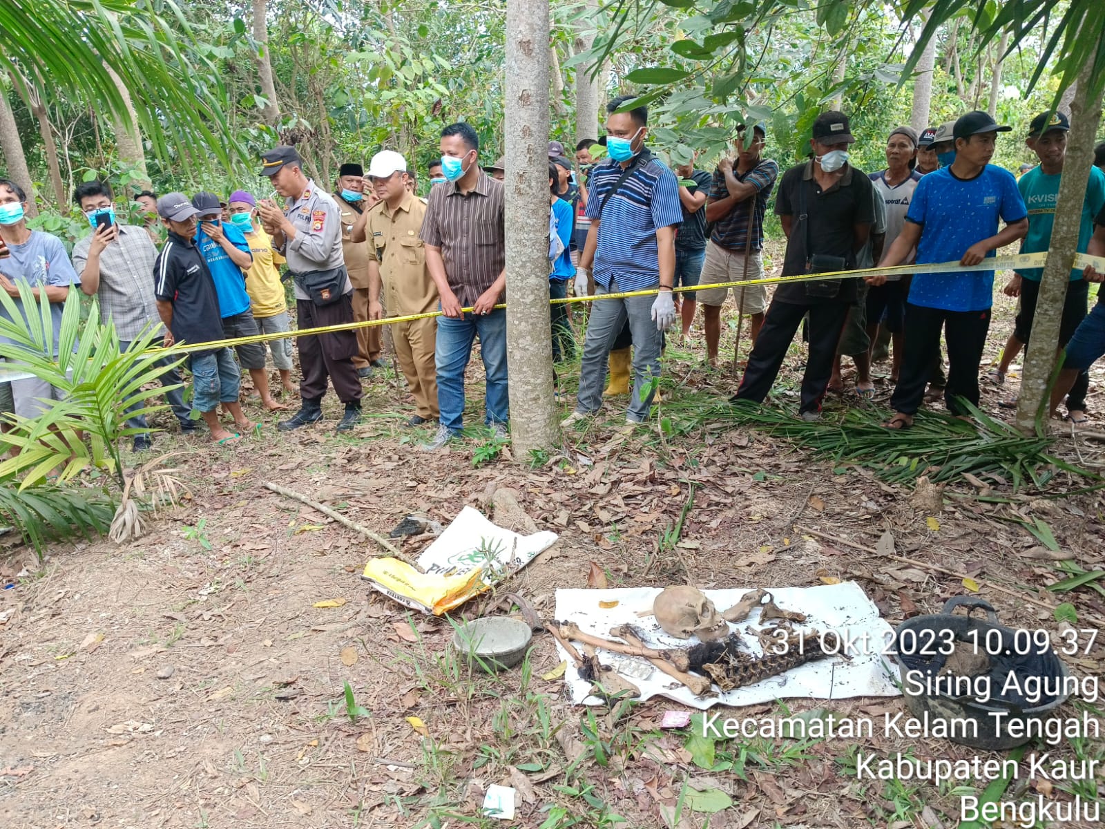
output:
<instances>
[{"instance_id":1,"label":"brown striped short-sleeved shirt on man beside the central tree","mask_svg":"<svg viewBox=\"0 0 1105 829\"><path fill-rule=\"evenodd\" d=\"M430 190L422 241L441 249L449 287L469 307L492 286L506 265L503 183L483 170L466 196L456 182Z\"/></svg>"}]
</instances>

